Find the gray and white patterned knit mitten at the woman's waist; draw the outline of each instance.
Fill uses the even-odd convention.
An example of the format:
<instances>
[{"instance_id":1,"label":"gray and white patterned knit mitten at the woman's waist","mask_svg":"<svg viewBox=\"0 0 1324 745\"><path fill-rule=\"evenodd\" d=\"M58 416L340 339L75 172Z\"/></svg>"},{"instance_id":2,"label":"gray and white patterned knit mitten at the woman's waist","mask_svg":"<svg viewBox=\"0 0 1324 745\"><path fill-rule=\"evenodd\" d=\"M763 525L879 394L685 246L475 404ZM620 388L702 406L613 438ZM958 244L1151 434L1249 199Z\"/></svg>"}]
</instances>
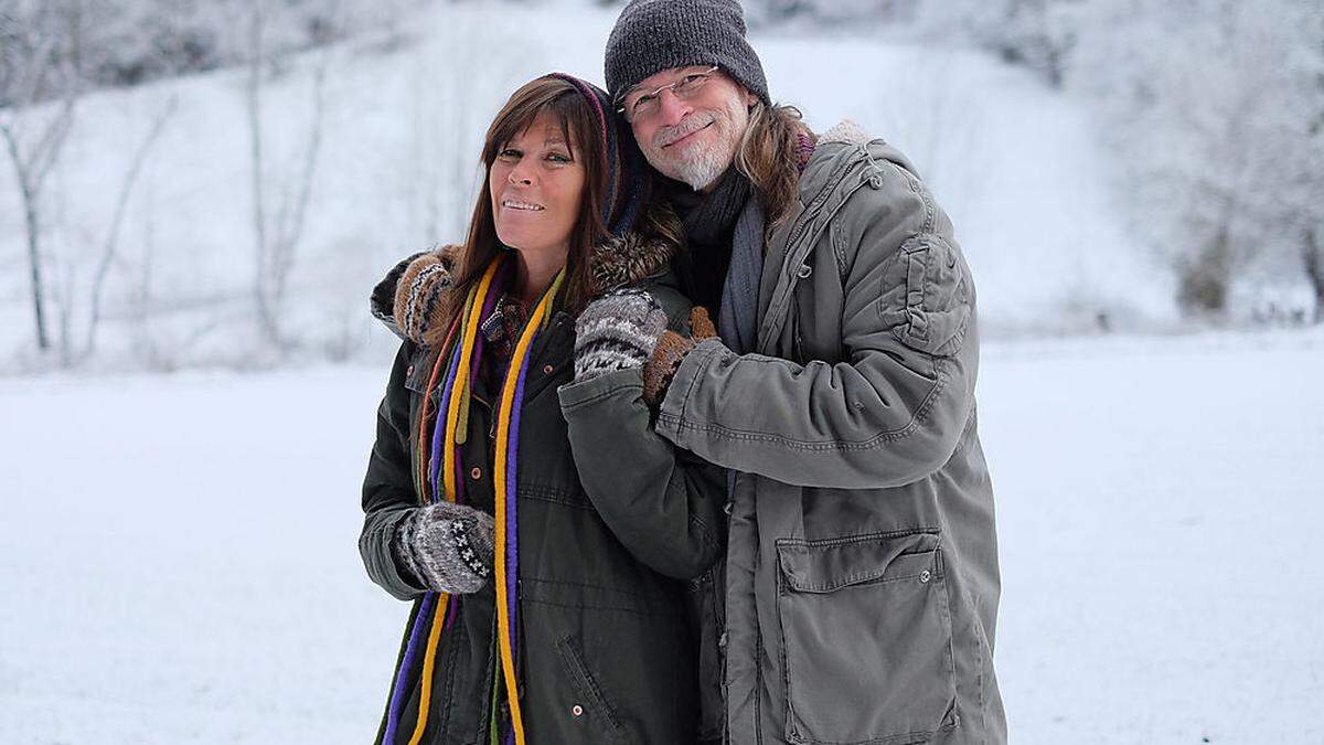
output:
<instances>
[{"instance_id":1,"label":"gray and white patterned knit mitten at the woman's waist","mask_svg":"<svg viewBox=\"0 0 1324 745\"><path fill-rule=\"evenodd\" d=\"M477 593L491 574L496 521L454 502L414 508L396 528L391 549L420 585L436 593Z\"/></svg>"}]
</instances>

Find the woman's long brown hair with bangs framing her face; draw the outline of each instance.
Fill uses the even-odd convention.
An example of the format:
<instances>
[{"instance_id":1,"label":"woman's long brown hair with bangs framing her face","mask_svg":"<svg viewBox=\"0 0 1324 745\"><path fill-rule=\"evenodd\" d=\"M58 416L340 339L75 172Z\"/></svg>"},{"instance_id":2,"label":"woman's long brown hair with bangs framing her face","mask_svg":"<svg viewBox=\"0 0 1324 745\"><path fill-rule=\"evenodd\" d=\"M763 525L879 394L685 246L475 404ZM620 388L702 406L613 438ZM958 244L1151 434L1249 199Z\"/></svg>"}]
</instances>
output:
<instances>
[{"instance_id":1,"label":"woman's long brown hair with bangs framing her face","mask_svg":"<svg viewBox=\"0 0 1324 745\"><path fill-rule=\"evenodd\" d=\"M527 129L543 111L549 113L561 129L561 135L571 150L571 158L579 160L585 170L584 192L580 198L579 219L571 229L571 245L565 257L565 308L571 312L581 309L589 298L592 286L593 247L606 239L609 232L602 224L602 199L608 190L605 146L594 137L598 130L592 103L581 95L572 82L560 77L540 77L524 84L511 94L510 101L487 127L483 142L482 163L485 168L483 187L474 203L469 220L469 235L458 257L458 273L453 292L466 297L469 290L482 278L491 264L506 247L496 236L496 221L491 205L491 167L502 147ZM457 312L462 302L454 304ZM454 318L448 318L449 325Z\"/></svg>"}]
</instances>

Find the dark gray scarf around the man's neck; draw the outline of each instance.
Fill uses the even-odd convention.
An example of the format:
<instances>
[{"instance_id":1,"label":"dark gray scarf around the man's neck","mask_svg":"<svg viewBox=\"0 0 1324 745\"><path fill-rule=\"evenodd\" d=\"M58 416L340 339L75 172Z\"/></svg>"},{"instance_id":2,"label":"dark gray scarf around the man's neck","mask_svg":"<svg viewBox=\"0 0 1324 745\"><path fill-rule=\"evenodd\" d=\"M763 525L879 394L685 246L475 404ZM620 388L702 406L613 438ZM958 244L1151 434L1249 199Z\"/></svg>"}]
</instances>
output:
<instances>
[{"instance_id":1,"label":"dark gray scarf around the man's neck","mask_svg":"<svg viewBox=\"0 0 1324 745\"><path fill-rule=\"evenodd\" d=\"M759 282L763 278L763 204L749 179L733 167L708 194L678 194L677 208L692 244L714 245L731 224L731 266L722 285L718 333L737 354L753 351L759 331Z\"/></svg>"}]
</instances>

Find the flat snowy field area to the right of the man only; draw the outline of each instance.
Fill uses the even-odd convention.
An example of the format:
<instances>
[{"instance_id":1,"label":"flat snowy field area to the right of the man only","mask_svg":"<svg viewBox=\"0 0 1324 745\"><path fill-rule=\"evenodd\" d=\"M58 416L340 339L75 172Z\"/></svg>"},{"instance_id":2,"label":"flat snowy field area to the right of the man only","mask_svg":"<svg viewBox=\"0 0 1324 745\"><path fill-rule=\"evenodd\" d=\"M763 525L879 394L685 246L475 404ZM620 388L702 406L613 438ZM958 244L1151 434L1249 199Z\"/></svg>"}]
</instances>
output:
<instances>
[{"instance_id":1,"label":"flat snowy field area to the right of the man only","mask_svg":"<svg viewBox=\"0 0 1324 745\"><path fill-rule=\"evenodd\" d=\"M986 357L1013 741L1324 738L1324 346L1292 339Z\"/></svg>"}]
</instances>

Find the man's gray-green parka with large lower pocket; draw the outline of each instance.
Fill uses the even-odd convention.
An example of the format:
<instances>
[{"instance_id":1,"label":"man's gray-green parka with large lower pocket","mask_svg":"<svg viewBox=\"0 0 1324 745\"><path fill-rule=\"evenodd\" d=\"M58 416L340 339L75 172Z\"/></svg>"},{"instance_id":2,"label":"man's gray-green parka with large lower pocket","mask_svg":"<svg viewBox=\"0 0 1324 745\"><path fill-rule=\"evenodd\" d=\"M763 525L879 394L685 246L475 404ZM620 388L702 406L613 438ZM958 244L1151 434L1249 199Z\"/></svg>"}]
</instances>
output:
<instances>
[{"instance_id":1,"label":"man's gray-green parka with large lower pocket","mask_svg":"<svg viewBox=\"0 0 1324 745\"><path fill-rule=\"evenodd\" d=\"M655 423L736 473L703 608L707 729L739 745L1006 741L977 370L951 220L895 148L826 133L767 245L756 353L702 342ZM626 416L616 384L633 382L561 390L572 439Z\"/></svg>"}]
</instances>

